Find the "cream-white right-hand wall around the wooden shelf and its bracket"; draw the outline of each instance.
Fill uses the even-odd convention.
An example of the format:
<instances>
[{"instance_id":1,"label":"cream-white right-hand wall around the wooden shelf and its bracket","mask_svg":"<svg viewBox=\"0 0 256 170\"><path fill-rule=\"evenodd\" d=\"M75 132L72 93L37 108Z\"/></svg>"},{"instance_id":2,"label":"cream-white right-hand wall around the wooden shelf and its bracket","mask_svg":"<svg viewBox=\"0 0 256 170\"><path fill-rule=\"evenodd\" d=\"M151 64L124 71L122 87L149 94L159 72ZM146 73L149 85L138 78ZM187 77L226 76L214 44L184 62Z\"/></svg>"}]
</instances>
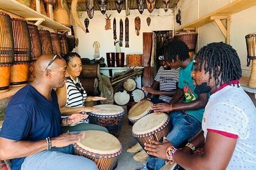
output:
<instances>
[{"instance_id":1,"label":"cream-white right-hand wall around the wooden shelf and its bracket","mask_svg":"<svg viewBox=\"0 0 256 170\"><path fill-rule=\"evenodd\" d=\"M233 0L234 1L234 0ZM180 0L174 13L181 9L182 25L175 23L175 28L179 29L190 24L196 19L202 18L215 10L233 2L231 0ZM243 76L249 77L251 67L246 67L246 42L244 36L256 32L256 6L231 15L230 24L230 45L238 52L243 69ZM219 30L215 22L203 25L198 28L197 50L210 42L225 42L224 35Z\"/></svg>"}]
</instances>

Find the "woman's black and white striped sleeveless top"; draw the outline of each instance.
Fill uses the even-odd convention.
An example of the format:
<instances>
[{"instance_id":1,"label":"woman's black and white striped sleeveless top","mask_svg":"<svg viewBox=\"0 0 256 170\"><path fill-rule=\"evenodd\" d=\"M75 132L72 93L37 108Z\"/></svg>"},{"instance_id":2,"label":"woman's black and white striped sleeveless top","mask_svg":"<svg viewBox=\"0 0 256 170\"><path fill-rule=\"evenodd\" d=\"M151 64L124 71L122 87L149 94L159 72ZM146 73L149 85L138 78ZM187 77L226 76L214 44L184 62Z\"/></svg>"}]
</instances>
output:
<instances>
[{"instance_id":1,"label":"woman's black and white striped sleeveless top","mask_svg":"<svg viewBox=\"0 0 256 170\"><path fill-rule=\"evenodd\" d=\"M80 88L76 86L76 83L80 84ZM83 90L83 94L80 92L80 89ZM66 106L68 107L82 107L84 106L85 99L87 98L87 93L84 90L82 83L79 78L76 78L76 81L73 78L69 77L66 81ZM80 121L79 123L88 123L88 119Z\"/></svg>"}]
</instances>

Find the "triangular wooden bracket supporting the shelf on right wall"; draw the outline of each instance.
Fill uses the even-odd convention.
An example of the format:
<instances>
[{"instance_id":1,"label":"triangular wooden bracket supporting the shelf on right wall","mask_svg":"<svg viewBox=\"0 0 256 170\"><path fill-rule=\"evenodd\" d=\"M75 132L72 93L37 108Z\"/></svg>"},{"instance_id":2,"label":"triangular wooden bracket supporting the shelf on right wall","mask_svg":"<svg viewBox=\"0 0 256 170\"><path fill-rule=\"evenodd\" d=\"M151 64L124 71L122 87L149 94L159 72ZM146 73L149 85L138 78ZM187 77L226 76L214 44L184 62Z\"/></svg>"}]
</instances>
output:
<instances>
[{"instance_id":1,"label":"triangular wooden bracket supporting the shelf on right wall","mask_svg":"<svg viewBox=\"0 0 256 170\"><path fill-rule=\"evenodd\" d=\"M226 38L226 43L229 44L229 41L230 41L230 15L228 15L228 16L211 16L210 19L212 19L216 22L216 24L218 25L222 34ZM221 19L226 19L226 22L227 22L226 27L222 24Z\"/></svg>"}]
</instances>

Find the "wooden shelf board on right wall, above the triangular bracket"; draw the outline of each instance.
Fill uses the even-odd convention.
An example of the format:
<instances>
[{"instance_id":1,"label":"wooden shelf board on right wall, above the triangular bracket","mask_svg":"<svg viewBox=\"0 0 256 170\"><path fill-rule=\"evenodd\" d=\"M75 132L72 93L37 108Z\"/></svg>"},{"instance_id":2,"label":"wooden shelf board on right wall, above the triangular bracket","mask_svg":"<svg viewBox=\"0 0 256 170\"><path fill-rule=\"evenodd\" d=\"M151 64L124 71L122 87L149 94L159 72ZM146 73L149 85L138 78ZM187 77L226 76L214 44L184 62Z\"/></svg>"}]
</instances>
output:
<instances>
[{"instance_id":1,"label":"wooden shelf board on right wall, above the triangular bracket","mask_svg":"<svg viewBox=\"0 0 256 170\"><path fill-rule=\"evenodd\" d=\"M215 21L216 16L218 16L218 18L222 18L223 16L229 16L254 5L256 5L255 0L236 0L226 5L225 7L222 7L221 9L204 16L201 19L197 19L196 21L191 22L190 24L187 24L180 29L177 29L176 32L182 31L186 28L201 27L202 25Z\"/></svg>"}]
</instances>

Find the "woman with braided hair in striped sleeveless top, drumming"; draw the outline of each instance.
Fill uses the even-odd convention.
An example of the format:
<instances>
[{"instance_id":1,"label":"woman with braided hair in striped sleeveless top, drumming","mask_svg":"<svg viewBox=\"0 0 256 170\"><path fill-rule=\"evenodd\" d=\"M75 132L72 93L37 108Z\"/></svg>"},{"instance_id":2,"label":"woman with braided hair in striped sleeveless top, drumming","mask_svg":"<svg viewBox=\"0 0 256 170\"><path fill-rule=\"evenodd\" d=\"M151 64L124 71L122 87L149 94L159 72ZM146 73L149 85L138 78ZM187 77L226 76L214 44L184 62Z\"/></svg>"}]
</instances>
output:
<instances>
[{"instance_id":1,"label":"woman with braided hair in striped sleeveless top, drumming","mask_svg":"<svg viewBox=\"0 0 256 170\"><path fill-rule=\"evenodd\" d=\"M103 97L87 96L82 83L79 80L79 75L82 71L82 61L80 55L77 53L68 53L63 57L67 64L67 72L69 78L65 86L56 89L60 112L63 117L73 113L86 114L86 112L96 112L99 109L94 107L84 106L85 101L98 101L105 100ZM88 130L101 130L107 131L105 127L96 124L89 124L88 119L80 121L74 126L65 126L63 131L88 131Z\"/></svg>"}]
</instances>

